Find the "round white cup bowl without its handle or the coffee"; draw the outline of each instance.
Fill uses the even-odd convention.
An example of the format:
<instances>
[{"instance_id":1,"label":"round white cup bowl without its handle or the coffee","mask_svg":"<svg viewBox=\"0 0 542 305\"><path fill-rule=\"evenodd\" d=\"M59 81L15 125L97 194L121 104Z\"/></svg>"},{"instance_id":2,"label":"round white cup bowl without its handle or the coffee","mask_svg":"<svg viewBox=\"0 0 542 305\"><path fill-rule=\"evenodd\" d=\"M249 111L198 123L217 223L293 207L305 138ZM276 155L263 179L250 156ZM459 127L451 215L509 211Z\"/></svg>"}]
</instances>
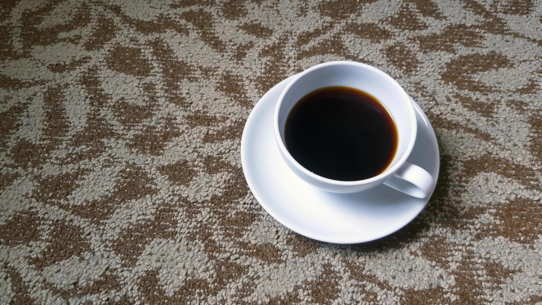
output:
<instances>
[{"instance_id":1,"label":"round white cup bowl without its handle or the coffee","mask_svg":"<svg viewBox=\"0 0 542 305\"><path fill-rule=\"evenodd\" d=\"M359 181L327 179L302 167L287 152L284 128L288 114L303 96L313 90L328 86L346 86L363 90L378 99L388 109L397 127L397 150L388 168L377 176ZM416 116L409 96L388 74L363 63L349 61L328 62L305 70L286 86L276 107L275 133L278 133L278 135L275 134L275 137L282 157L301 179L320 189L332 192L362 191L375 186L372 184L377 181L378 183L383 182L387 176L404 163L412 150L416 137ZM337 187L328 187L326 184L337 185ZM363 185L367 187L363 187ZM340 186L350 186L350 190Z\"/></svg>"}]
</instances>

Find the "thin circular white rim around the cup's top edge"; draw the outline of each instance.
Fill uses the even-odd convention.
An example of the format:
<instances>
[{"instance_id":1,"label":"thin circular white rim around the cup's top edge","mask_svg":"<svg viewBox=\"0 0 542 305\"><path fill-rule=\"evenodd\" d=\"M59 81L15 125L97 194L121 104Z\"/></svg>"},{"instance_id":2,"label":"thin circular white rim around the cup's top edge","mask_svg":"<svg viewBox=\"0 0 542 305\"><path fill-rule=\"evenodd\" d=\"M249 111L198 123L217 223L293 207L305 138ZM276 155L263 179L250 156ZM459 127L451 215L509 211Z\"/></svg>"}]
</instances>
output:
<instances>
[{"instance_id":1,"label":"thin circular white rim around the cup's top edge","mask_svg":"<svg viewBox=\"0 0 542 305\"><path fill-rule=\"evenodd\" d=\"M376 72L376 73L384 76L385 79L390 81L390 85L396 86L399 89L399 91L403 95L405 101L408 101L408 103L410 104L410 107L409 107L410 119L411 119L411 121L414 122L412 124L413 127L411 128L411 131L410 131L410 142L407 145L406 150L404 151L403 155L401 155L401 157L397 160L397 162L395 164L393 164L391 167L389 167L387 170L385 170L384 172L379 173L377 176L367 178L367 179L363 179L363 180L355 180L355 181L334 180L334 179L319 176L318 174L315 174L315 173L307 170L307 168L305 168L304 166L299 164L298 161L296 161L294 159L294 157L292 157L292 155L290 154L290 152L286 148L286 145L284 144L284 141L282 140L282 137L281 137L281 134L280 134L280 129L279 129L279 111L280 111L280 108L282 106L282 101L284 99L284 96L286 95L288 90L290 88L292 88L292 86L294 86L295 83L302 76L304 76L305 74L307 74L309 72L312 72L313 70L317 70L317 69L324 68L324 67L327 67L327 66L335 66L335 65L341 65L341 64L353 65L353 66L356 66L356 67L362 68L362 69L369 69L369 70L372 70L373 72ZM276 106L275 106L275 113L274 113L274 116L273 116L273 125L274 125L273 127L274 127L274 133L275 133L275 141L276 141L277 145L279 146L279 150L281 151L281 154L282 154L283 158L286 158L287 161L290 164L293 164L299 171L301 171L305 175L311 177L312 179L321 181L322 183L337 185L337 186L358 186L358 185L370 184L370 183L373 183L375 181L378 181L378 180L381 180L381 179L384 179L384 178L390 176L393 172L397 171L399 169L399 167L401 167L406 162L406 159L409 157L410 152L412 151L412 147L414 147L414 142L416 140L416 132L417 132L416 113L414 112L414 106L412 105L412 101L410 99L410 96L408 94L406 94L403 87L401 87L401 85L399 85L399 83L396 80L394 80L393 77L386 74L382 70L380 70L378 68L375 68L375 67L372 67L369 64L355 62L355 61L330 61L330 62L320 63L320 64L312 66L311 68L308 68L308 69L304 70L303 72L300 72L298 75L296 75L294 77L294 79L292 79L286 85L286 87L282 90L282 92L281 92L281 94L279 96L279 99L278 99L278 101L276 103Z\"/></svg>"}]
</instances>

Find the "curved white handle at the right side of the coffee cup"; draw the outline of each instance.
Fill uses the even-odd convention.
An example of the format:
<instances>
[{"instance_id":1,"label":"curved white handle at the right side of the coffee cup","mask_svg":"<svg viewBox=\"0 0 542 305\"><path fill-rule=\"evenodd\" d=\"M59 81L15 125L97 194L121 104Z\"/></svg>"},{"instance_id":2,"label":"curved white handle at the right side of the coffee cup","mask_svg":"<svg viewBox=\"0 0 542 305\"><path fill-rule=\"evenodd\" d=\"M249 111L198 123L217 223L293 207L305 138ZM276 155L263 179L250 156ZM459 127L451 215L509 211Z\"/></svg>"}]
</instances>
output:
<instances>
[{"instance_id":1,"label":"curved white handle at the right side of the coffee cup","mask_svg":"<svg viewBox=\"0 0 542 305\"><path fill-rule=\"evenodd\" d=\"M420 166L405 162L384 184L412 197L425 198L433 190L435 180Z\"/></svg>"}]
</instances>

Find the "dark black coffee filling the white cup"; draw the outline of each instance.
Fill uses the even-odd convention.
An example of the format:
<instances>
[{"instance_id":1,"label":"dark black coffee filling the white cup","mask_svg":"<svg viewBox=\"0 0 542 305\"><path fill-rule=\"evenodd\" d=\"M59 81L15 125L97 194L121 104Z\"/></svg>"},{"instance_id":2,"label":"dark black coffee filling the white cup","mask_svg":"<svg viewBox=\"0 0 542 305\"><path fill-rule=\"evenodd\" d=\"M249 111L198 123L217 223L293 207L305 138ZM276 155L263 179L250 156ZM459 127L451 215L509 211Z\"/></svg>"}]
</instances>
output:
<instances>
[{"instance_id":1,"label":"dark black coffee filling the white cup","mask_svg":"<svg viewBox=\"0 0 542 305\"><path fill-rule=\"evenodd\" d=\"M388 110L374 96L350 87L325 87L303 96L284 132L299 164L334 180L374 177L397 150L397 128Z\"/></svg>"}]
</instances>

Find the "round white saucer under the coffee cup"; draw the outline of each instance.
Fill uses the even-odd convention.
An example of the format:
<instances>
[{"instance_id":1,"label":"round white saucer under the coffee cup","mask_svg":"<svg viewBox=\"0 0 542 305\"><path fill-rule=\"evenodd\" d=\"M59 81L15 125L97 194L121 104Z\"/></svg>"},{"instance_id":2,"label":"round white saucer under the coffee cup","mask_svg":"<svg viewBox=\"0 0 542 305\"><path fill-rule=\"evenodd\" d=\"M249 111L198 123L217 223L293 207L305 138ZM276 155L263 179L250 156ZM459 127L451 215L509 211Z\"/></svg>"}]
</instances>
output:
<instances>
[{"instance_id":1,"label":"round white saucer under the coffee cup","mask_svg":"<svg viewBox=\"0 0 542 305\"><path fill-rule=\"evenodd\" d=\"M262 96L243 129L243 172L263 209L287 228L330 243L369 242L408 224L430 196L414 198L384 185L353 194L330 193L315 189L289 170L275 144L273 113L282 89L294 76ZM435 133L422 109L416 102L414 106L418 134L407 161L424 168L436 181L439 157Z\"/></svg>"}]
</instances>

